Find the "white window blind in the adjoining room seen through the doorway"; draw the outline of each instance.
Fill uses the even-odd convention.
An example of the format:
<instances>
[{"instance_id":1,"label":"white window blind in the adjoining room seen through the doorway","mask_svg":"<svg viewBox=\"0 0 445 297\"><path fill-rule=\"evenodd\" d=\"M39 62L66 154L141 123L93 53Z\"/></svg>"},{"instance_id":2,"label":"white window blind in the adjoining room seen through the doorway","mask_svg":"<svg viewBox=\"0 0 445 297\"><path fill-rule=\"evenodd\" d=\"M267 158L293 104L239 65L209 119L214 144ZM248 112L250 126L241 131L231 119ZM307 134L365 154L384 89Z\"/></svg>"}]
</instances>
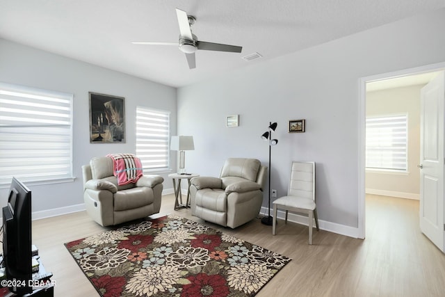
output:
<instances>
[{"instance_id":1,"label":"white window blind in the adjoining room seen through the doorway","mask_svg":"<svg viewBox=\"0 0 445 297\"><path fill-rule=\"evenodd\" d=\"M407 115L366 118L366 168L407 170Z\"/></svg>"}]
</instances>

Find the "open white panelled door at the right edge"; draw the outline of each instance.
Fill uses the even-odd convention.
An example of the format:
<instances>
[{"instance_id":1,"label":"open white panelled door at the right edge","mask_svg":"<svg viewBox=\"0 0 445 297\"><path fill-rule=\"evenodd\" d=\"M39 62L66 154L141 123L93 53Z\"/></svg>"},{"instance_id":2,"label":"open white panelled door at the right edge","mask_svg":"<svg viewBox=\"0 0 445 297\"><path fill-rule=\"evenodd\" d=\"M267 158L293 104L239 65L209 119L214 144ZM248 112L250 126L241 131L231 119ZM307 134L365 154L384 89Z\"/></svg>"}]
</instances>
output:
<instances>
[{"instance_id":1,"label":"open white panelled door at the right edge","mask_svg":"<svg viewBox=\"0 0 445 297\"><path fill-rule=\"evenodd\" d=\"M444 252L445 75L421 90L420 228Z\"/></svg>"}]
</instances>

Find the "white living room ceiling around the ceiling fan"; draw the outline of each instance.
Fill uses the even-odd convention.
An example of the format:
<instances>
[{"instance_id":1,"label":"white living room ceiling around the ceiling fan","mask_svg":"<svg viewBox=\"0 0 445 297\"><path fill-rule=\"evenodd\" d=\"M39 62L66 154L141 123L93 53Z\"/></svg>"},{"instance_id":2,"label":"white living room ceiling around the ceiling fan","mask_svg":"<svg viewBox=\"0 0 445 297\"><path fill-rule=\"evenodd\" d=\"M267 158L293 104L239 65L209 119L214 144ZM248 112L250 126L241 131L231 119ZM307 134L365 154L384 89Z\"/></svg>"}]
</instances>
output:
<instances>
[{"instance_id":1,"label":"white living room ceiling around the ceiling fan","mask_svg":"<svg viewBox=\"0 0 445 297\"><path fill-rule=\"evenodd\" d=\"M443 7L444 0L0 0L0 38L179 87ZM199 40L243 51L197 51L189 70L177 47L131 44L176 42L175 8L196 17ZM243 60L254 52L262 58Z\"/></svg>"}]
</instances>

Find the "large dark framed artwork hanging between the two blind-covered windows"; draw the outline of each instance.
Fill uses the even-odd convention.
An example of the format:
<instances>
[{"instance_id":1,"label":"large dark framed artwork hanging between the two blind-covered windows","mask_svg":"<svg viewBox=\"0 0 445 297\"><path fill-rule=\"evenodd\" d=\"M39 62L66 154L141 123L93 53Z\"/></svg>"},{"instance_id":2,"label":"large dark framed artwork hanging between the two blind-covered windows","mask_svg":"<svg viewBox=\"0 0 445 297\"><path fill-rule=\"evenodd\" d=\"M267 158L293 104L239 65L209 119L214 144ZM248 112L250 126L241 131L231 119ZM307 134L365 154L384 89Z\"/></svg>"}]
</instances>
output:
<instances>
[{"instance_id":1,"label":"large dark framed artwork hanging between the two blind-covered windows","mask_svg":"<svg viewBox=\"0 0 445 297\"><path fill-rule=\"evenodd\" d=\"M90 143L125 143L124 97L88 93Z\"/></svg>"}]
</instances>

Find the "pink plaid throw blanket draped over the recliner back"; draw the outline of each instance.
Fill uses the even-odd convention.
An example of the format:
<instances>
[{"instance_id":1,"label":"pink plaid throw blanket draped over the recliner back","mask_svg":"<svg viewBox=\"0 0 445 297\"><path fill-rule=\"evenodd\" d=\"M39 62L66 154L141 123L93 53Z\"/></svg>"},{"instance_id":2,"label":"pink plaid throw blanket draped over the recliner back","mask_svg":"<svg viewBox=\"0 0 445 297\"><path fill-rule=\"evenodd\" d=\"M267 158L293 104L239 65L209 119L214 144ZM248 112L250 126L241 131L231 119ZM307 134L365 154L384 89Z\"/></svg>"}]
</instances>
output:
<instances>
[{"instance_id":1,"label":"pink plaid throw blanket draped over the recliner back","mask_svg":"<svg viewBox=\"0 0 445 297\"><path fill-rule=\"evenodd\" d=\"M143 176L142 163L134 154L107 154L113 159L113 174L118 177L118 185L136 183Z\"/></svg>"}]
</instances>

